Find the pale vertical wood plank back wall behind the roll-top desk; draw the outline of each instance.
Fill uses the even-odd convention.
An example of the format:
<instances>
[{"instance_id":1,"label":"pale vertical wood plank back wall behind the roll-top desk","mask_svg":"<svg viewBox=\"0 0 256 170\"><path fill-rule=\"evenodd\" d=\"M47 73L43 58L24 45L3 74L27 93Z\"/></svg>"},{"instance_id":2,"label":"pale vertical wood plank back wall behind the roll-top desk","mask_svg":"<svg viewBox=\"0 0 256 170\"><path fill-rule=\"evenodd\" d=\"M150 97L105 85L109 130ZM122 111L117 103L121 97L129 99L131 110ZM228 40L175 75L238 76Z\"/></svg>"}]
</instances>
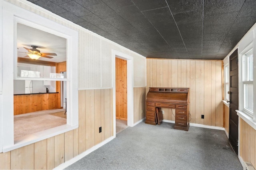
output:
<instances>
[{"instance_id":1,"label":"pale vertical wood plank back wall behind the roll-top desk","mask_svg":"<svg viewBox=\"0 0 256 170\"><path fill-rule=\"evenodd\" d=\"M146 92L149 87L190 88L190 123L223 127L222 65L222 61L146 59ZM175 120L174 109L164 112L164 119Z\"/></svg>"}]
</instances>

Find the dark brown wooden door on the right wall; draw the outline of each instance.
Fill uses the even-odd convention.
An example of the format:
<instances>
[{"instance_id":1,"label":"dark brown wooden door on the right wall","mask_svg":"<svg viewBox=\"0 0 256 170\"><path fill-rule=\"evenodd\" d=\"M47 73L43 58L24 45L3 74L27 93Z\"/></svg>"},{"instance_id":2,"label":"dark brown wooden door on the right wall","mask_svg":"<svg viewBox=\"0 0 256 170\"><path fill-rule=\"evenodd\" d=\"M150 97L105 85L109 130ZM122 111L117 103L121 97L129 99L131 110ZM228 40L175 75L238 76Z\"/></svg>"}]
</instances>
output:
<instances>
[{"instance_id":1,"label":"dark brown wooden door on the right wall","mask_svg":"<svg viewBox=\"0 0 256 170\"><path fill-rule=\"evenodd\" d=\"M229 58L229 84L230 84L230 107L229 107L229 141L236 154L238 154L238 52L237 49Z\"/></svg>"}]
</instances>

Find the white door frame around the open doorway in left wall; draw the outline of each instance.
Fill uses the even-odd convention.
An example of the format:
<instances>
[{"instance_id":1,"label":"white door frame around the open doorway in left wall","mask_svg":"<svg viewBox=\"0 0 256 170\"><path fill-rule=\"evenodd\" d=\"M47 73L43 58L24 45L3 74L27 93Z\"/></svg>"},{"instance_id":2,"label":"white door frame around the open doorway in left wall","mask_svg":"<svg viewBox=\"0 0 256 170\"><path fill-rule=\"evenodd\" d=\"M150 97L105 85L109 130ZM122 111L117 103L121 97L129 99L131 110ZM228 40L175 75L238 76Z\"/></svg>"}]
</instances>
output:
<instances>
[{"instance_id":1,"label":"white door frame around the open doorway in left wall","mask_svg":"<svg viewBox=\"0 0 256 170\"><path fill-rule=\"evenodd\" d=\"M127 125L134 126L133 114L133 57L112 49L112 88L113 88L113 123L114 137L116 137L116 57L127 61Z\"/></svg>"}]
</instances>

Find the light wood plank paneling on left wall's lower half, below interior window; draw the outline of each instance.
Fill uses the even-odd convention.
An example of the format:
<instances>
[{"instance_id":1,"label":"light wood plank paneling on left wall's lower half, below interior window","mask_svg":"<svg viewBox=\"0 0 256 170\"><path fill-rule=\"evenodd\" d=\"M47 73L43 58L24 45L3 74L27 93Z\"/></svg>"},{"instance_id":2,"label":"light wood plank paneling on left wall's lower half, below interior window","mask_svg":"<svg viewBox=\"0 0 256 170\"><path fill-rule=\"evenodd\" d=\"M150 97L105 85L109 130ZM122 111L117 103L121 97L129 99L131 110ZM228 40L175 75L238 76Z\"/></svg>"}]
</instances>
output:
<instances>
[{"instance_id":1,"label":"light wood plank paneling on left wall's lower half, below interior window","mask_svg":"<svg viewBox=\"0 0 256 170\"><path fill-rule=\"evenodd\" d=\"M0 153L0 169L53 169L113 136L112 89L78 93L78 129Z\"/></svg>"}]
</instances>

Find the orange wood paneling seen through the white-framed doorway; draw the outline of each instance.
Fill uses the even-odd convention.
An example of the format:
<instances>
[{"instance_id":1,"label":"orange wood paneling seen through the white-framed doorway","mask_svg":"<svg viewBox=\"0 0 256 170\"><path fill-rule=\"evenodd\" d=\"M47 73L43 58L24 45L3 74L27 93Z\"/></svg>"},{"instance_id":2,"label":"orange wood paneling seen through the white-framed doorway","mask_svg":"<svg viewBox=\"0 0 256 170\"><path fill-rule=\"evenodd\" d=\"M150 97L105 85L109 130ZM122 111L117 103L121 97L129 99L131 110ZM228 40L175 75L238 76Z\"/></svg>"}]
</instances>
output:
<instances>
[{"instance_id":1,"label":"orange wood paneling seen through the white-framed doorway","mask_svg":"<svg viewBox=\"0 0 256 170\"><path fill-rule=\"evenodd\" d=\"M116 119L127 121L127 61L116 57Z\"/></svg>"}]
</instances>

